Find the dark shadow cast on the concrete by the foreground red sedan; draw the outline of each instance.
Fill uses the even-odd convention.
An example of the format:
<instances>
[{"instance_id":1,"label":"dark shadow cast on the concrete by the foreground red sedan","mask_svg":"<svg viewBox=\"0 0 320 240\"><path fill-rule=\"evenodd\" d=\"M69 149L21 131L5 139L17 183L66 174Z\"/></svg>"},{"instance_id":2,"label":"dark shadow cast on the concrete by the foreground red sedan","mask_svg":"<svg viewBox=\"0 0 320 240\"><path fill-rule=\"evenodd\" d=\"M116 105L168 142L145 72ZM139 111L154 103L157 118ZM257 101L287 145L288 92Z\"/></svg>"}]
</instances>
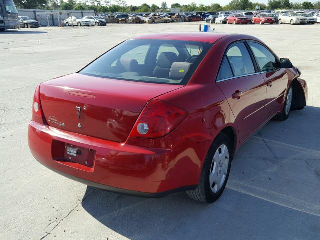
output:
<instances>
[{"instance_id":1,"label":"dark shadow cast on the concrete by the foreground red sedan","mask_svg":"<svg viewBox=\"0 0 320 240\"><path fill-rule=\"evenodd\" d=\"M320 108L307 106L267 123L235 156L227 187L213 204L185 192L150 199L88 186L82 207L116 239L316 239L318 119Z\"/></svg>"}]
</instances>

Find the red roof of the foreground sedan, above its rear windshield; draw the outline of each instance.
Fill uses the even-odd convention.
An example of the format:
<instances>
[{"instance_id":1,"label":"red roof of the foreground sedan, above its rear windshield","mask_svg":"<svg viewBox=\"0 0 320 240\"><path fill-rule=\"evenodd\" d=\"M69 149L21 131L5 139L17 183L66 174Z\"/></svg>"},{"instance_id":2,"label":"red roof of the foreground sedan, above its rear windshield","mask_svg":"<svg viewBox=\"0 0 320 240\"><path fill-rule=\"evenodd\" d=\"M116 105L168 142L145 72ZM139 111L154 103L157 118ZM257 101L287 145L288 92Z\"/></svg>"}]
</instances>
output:
<instances>
[{"instance_id":1,"label":"red roof of the foreground sedan, above its rear windshield","mask_svg":"<svg viewBox=\"0 0 320 240\"><path fill-rule=\"evenodd\" d=\"M256 39L255 37L234 33L211 33L211 32L167 32L151 33L137 36L131 39L161 39L161 40L185 40L214 43L223 37L235 37L238 39Z\"/></svg>"}]
</instances>

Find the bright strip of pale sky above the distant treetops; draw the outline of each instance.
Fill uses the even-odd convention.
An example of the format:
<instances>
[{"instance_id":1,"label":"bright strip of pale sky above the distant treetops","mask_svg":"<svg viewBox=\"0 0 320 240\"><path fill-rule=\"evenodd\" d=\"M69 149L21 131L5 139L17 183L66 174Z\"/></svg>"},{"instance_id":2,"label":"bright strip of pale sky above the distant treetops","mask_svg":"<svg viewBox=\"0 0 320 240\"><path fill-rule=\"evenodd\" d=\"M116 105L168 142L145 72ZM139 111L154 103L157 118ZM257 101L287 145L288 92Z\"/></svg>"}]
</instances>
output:
<instances>
[{"instance_id":1,"label":"bright strip of pale sky above the distant treetops","mask_svg":"<svg viewBox=\"0 0 320 240\"><path fill-rule=\"evenodd\" d=\"M115 4L115 0L112 0L112 4ZM171 6L172 3L179 3L179 4L189 4L191 2L195 2L196 4L204 4L204 5L211 5L213 3L219 3L220 5L224 6L228 4L231 0L126 0L127 5L141 5L143 3L147 3L148 5L155 4L157 6L161 6L161 2L165 1L168 5L168 7ZM252 2L261 2L261 3L267 3L268 0L251 0ZM290 0L292 2L303 2L306 0ZM311 2L315 2L317 0L307 0ZM103 2L103 0L102 0Z\"/></svg>"}]
</instances>

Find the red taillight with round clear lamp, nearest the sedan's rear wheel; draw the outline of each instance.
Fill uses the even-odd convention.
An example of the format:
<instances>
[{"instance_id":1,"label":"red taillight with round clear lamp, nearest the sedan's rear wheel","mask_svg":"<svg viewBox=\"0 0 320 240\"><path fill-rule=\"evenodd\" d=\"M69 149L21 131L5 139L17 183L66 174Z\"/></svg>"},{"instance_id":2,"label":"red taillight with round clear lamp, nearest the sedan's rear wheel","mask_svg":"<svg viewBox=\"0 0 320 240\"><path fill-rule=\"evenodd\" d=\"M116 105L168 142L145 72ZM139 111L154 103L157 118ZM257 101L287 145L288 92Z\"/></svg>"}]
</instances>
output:
<instances>
[{"instance_id":1,"label":"red taillight with round clear lamp, nearest the sedan's rear wheel","mask_svg":"<svg viewBox=\"0 0 320 240\"><path fill-rule=\"evenodd\" d=\"M182 108L160 100L150 100L138 117L130 137L157 138L175 129L186 117Z\"/></svg>"}]
</instances>

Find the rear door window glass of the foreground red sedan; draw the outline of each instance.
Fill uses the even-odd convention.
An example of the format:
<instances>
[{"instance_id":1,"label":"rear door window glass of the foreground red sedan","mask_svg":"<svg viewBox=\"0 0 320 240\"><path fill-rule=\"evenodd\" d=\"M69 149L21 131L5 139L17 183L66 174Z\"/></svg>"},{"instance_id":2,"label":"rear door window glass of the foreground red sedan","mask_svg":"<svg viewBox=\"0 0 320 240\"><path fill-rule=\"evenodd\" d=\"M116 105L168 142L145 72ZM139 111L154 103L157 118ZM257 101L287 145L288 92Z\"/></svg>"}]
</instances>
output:
<instances>
[{"instance_id":1,"label":"rear door window glass of the foreground red sedan","mask_svg":"<svg viewBox=\"0 0 320 240\"><path fill-rule=\"evenodd\" d=\"M251 56L244 43L236 43L226 53L231 64L234 76L255 73Z\"/></svg>"}]
</instances>

